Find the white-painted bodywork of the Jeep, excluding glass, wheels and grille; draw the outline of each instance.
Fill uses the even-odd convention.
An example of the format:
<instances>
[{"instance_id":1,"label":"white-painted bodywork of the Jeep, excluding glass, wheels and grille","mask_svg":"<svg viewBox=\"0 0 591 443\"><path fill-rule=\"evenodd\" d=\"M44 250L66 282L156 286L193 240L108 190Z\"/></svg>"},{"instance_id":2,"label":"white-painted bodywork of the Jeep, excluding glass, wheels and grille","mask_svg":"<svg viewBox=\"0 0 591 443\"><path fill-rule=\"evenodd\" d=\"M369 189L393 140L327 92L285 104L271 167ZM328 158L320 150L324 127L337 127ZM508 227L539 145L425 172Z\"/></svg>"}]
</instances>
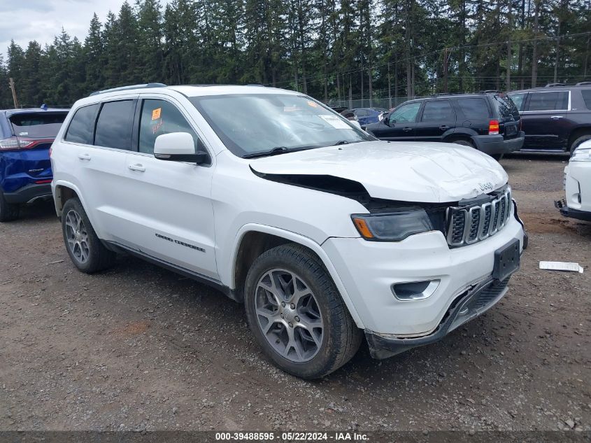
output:
<instances>
[{"instance_id":1,"label":"white-painted bodywork of the Jeep, excluding glass, wheels and grille","mask_svg":"<svg viewBox=\"0 0 591 443\"><path fill-rule=\"evenodd\" d=\"M362 183L372 197L408 202L476 197L505 185L506 173L487 155L447 143L372 141L241 159L227 150L185 95L245 92L296 94L264 87L253 91L253 87L180 86L111 92L76 102L52 148L54 193L59 186L75 190L101 239L229 288L235 288L236 255L247 232L266 232L304 244L324 262L357 326L389 334L431 329L459 290L491 274L497 248L523 239L513 217L494 237L456 249L448 247L441 232L416 234L397 243L359 238L350 218L368 212L359 202L269 181L253 174L251 167L264 174L348 178ZM166 162L148 154L63 140L79 106L138 96L177 106L204 141L211 165ZM92 159L80 160L78 153L90 153ZM144 171L129 169L138 164ZM441 284L426 300L400 302L390 290L394 282L433 277Z\"/></svg>"}]
</instances>

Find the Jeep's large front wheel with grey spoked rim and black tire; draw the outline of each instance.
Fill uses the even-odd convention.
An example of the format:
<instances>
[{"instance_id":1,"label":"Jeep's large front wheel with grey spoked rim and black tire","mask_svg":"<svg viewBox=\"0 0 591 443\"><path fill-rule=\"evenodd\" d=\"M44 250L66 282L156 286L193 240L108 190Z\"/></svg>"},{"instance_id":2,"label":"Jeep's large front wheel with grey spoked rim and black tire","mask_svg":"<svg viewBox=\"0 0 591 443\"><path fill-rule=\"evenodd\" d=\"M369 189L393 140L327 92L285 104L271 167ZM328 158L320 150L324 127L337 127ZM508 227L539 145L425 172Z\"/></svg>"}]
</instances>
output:
<instances>
[{"instance_id":1,"label":"Jeep's large front wheel with grey spoked rim and black tire","mask_svg":"<svg viewBox=\"0 0 591 443\"><path fill-rule=\"evenodd\" d=\"M362 341L334 282L307 248L285 244L255 260L245 283L255 339L285 372L316 379L352 358Z\"/></svg>"}]
</instances>

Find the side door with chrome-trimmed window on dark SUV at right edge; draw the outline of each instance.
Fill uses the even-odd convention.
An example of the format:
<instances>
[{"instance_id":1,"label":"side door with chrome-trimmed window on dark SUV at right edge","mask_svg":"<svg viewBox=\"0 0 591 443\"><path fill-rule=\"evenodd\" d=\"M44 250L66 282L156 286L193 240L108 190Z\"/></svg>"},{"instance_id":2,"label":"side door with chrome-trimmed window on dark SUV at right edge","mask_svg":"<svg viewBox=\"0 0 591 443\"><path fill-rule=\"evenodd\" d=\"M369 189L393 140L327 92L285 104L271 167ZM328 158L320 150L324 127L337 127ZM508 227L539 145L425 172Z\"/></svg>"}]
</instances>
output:
<instances>
[{"instance_id":1,"label":"side door with chrome-trimmed window on dark SUV at right edge","mask_svg":"<svg viewBox=\"0 0 591 443\"><path fill-rule=\"evenodd\" d=\"M521 113L524 149L564 150L569 138L569 91L530 91Z\"/></svg>"}]
</instances>

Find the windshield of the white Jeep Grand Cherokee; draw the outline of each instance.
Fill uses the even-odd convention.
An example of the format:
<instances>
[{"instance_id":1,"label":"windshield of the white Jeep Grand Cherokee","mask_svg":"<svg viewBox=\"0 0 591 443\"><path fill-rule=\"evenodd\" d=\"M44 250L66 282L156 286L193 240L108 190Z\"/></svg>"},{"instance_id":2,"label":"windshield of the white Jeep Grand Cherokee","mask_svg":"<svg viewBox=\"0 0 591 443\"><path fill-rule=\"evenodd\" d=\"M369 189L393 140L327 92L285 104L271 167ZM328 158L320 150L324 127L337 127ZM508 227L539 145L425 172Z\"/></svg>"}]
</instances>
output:
<instances>
[{"instance_id":1,"label":"windshield of the white Jeep Grand Cherokee","mask_svg":"<svg viewBox=\"0 0 591 443\"><path fill-rule=\"evenodd\" d=\"M375 140L304 95L226 94L190 100L238 157Z\"/></svg>"}]
</instances>

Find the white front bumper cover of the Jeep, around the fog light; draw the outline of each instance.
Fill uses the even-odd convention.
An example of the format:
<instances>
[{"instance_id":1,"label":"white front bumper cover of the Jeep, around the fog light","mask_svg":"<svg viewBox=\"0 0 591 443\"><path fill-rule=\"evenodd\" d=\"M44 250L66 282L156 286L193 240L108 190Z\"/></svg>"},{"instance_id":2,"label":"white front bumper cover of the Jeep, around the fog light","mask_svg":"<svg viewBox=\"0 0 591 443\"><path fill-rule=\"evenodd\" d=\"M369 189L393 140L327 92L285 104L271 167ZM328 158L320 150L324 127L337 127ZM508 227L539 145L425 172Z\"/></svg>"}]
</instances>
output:
<instances>
[{"instance_id":1,"label":"white front bumper cover of the Jeep, around the fog light","mask_svg":"<svg viewBox=\"0 0 591 443\"><path fill-rule=\"evenodd\" d=\"M330 238L322 248L347 290L359 328L406 339L436 332L458 295L492 278L494 252L514 239L522 250L527 237L518 219L511 217L497 234L460 248L449 248L439 231L399 242ZM413 281L438 285L421 300L394 296L392 285Z\"/></svg>"}]
</instances>

